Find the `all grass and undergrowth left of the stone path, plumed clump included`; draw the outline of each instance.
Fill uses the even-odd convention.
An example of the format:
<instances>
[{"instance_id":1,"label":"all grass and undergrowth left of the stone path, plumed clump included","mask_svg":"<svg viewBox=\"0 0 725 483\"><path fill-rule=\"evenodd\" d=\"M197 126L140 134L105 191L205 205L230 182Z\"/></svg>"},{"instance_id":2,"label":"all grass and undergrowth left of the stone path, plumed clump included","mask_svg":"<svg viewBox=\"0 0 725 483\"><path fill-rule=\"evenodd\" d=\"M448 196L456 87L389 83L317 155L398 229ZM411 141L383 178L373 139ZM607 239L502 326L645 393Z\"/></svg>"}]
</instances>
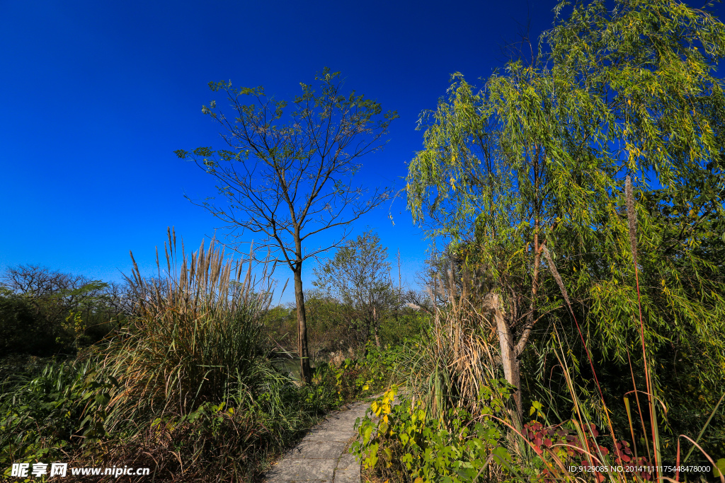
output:
<instances>
[{"instance_id":1,"label":"all grass and undergrowth left of the stone path, plumed clump included","mask_svg":"<svg viewBox=\"0 0 725 483\"><path fill-rule=\"evenodd\" d=\"M326 411L367 388L352 361L318 368L305 387L274 368L262 327L273 264L255 270L251 250L236 262L213 241L191 255L180 245L168 230L158 277L133 261L135 315L111 340L2 386L6 476L11 463L63 461L151 468L138 483L255 481Z\"/></svg>"}]
</instances>

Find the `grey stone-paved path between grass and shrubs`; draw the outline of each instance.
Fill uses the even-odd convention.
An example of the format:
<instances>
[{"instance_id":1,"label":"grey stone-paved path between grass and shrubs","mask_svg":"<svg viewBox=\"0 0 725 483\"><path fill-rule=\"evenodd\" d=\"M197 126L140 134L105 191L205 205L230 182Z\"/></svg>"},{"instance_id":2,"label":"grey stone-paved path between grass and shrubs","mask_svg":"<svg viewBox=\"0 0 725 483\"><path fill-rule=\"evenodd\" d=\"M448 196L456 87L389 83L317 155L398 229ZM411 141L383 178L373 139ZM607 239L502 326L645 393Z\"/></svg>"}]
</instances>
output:
<instances>
[{"instance_id":1,"label":"grey stone-paved path between grass and shrubs","mask_svg":"<svg viewBox=\"0 0 725 483\"><path fill-rule=\"evenodd\" d=\"M328 414L305 439L268 471L268 483L360 483L360 463L347 453L355 436L355 419L363 418L370 403L355 403Z\"/></svg>"}]
</instances>

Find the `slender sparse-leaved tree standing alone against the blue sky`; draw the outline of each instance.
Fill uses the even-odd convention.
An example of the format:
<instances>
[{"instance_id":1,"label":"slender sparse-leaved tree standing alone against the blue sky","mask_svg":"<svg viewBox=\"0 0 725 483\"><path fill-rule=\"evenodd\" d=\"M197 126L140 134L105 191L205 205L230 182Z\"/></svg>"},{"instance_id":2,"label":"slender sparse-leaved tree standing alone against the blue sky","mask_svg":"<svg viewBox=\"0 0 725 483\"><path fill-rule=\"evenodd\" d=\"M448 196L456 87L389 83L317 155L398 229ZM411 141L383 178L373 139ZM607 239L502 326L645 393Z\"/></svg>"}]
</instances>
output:
<instances>
[{"instance_id":1,"label":"slender sparse-leaved tree standing alone against the blue sky","mask_svg":"<svg viewBox=\"0 0 725 483\"><path fill-rule=\"evenodd\" d=\"M300 372L310 381L307 350L305 297L302 264L310 257L341 246L349 223L389 197L387 190L367 193L352 185L365 154L382 148L396 112L381 114L375 101L343 95L339 72L327 68L315 76L313 85L300 83L302 96L294 98L289 117L285 101L276 101L260 88L233 88L231 83L210 83L212 91L224 91L234 110L229 118L216 112L215 101L202 112L220 123L231 149L179 150L217 178L219 194L228 203L220 207L210 199L199 203L228 225L233 234L247 230L262 236L261 243L273 250L276 262L294 274L297 302L297 345ZM249 99L252 104L244 104ZM340 237L326 246L307 250L308 238L323 230L341 227ZM260 240L257 240L260 241Z\"/></svg>"}]
</instances>

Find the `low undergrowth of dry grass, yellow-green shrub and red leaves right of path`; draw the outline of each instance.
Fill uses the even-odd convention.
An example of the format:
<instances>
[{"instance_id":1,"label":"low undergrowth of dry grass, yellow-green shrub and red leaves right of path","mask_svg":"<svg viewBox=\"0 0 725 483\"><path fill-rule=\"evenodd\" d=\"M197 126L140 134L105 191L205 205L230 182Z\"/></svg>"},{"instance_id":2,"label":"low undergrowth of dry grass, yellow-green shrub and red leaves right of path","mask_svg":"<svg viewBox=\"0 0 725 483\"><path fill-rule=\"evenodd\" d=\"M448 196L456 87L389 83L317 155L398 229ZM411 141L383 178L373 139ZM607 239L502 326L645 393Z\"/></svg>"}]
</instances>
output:
<instances>
[{"instance_id":1,"label":"low undergrowth of dry grass, yellow-green shrub and red leaves right of path","mask_svg":"<svg viewBox=\"0 0 725 483\"><path fill-rule=\"evenodd\" d=\"M658 440L647 442L647 432L637 431L650 427L650 419L637 421L647 406L631 410L627 406L629 427L597 426L600 415L592 413L597 393L582 397L571 353L562 349L567 344L555 327L552 337L558 342L553 355L571 398L571 411L530 400L525 415L529 420L519 427L511 397L515 388L497 373L494 351L489 352L494 334L486 330L490 326L483 315L478 314L474 324L475 311L442 308L426 337L402 351L395 380L405 391L392 387L357 424L352 453L362 463L366 481L699 482L720 476L718 468L725 467L725 458L712 458L699 444L707 424L697 437L676 438L671 462L662 459L665 448L658 446ZM539 387L539 392L545 390ZM634 400L631 394L624 396ZM646 395L639 399L647 403ZM708 424L719 406L713 408ZM658 417L653 420L661 421L663 416ZM693 450L700 453L700 462Z\"/></svg>"}]
</instances>

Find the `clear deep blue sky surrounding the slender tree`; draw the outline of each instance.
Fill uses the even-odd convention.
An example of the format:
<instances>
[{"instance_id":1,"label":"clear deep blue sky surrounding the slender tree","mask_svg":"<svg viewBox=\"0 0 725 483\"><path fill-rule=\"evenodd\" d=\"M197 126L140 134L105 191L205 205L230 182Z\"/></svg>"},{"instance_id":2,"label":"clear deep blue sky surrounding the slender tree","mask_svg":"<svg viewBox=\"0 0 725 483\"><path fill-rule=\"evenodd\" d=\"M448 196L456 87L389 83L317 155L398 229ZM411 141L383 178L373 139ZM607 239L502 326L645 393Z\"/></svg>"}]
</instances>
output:
<instances>
[{"instance_id":1,"label":"clear deep blue sky surrounding the slender tree","mask_svg":"<svg viewBox=\"0 0 725 483\"><path fill-rule=\"evenodd\" d=\"M3 1L0 270L41 264L120 280L130 272L129 250L151 273L167 226L187 247L212 235L220 222L183 198L213 196L212 179L173 154L221 146L201 112L215 98L212 80L289 98L323 67L341 71L347 88L400 114L384 151L363 160L359 181L401 186L421 148L418 114L434 108L450 74L486 77L527 20L533 38L551 25L554 5ZM391 254L399 248L413 282L428 241L405 199L393 206L394 226L388 210L368 214L353 235L370 227Z\"/></svg>"}]
</instances>

